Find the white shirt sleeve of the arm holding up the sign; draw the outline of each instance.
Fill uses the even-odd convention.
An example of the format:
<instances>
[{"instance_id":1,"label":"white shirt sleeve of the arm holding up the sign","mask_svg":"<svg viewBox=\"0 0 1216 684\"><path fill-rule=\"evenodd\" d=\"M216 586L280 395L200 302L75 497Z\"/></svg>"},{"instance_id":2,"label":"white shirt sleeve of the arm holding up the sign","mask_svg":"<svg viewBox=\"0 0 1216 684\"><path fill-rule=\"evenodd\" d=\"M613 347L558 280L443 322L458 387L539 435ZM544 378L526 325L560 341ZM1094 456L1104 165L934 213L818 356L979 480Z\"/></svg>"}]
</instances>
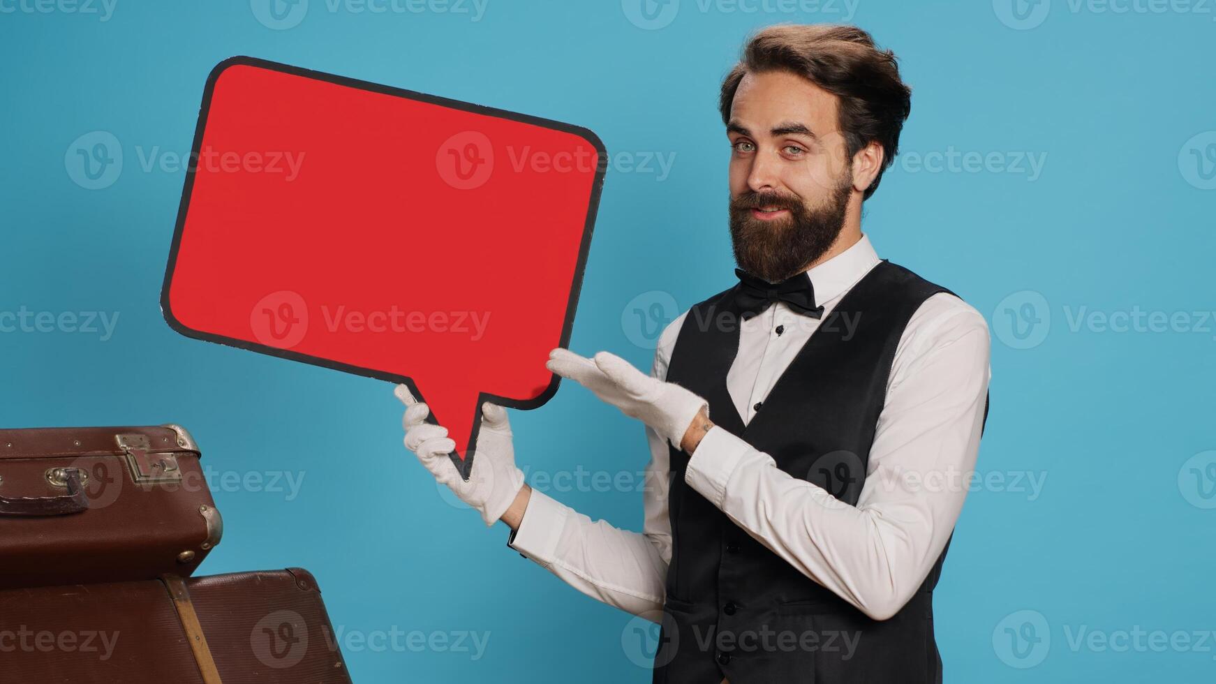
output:
<instances>
[{"instance_id":1,"label":"white shirt sleeve of the arm holding up the sign","mask_svg":"<svg viewBox=\"0 0 1216 684\"><path fill-rule=\"evenodd\" d=\"M664 379L685 315L659 337L651 374ZM666 441L646 428L651 460L646 465L642 532L620 530L533 490L519 527L507 545L547 569L584 594L658 622L671 563L670 486Z\"/></svg>"}]
</instances>

